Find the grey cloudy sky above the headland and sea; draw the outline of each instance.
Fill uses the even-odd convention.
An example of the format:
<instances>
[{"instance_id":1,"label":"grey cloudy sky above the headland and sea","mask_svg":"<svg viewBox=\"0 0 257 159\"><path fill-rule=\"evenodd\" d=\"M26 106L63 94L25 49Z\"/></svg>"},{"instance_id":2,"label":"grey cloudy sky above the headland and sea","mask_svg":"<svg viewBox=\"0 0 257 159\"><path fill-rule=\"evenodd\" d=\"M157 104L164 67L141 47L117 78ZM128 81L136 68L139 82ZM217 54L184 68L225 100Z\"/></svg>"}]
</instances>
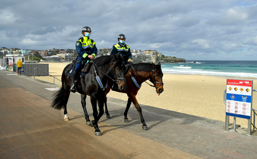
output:
<instances>
[{"instance_id":1,"label":"grey cloudy sky above the headland and sea","mask_svg":"<svg viewBox=\"0 0 257 159\"><path fill-rule=\"evenodd\" d=\"M98 49L118 35L131 49L186 60L257 60L253 0L8 0L0 5L0 48L75 49L89 26Z\"/></svg>"}]
</instances>

